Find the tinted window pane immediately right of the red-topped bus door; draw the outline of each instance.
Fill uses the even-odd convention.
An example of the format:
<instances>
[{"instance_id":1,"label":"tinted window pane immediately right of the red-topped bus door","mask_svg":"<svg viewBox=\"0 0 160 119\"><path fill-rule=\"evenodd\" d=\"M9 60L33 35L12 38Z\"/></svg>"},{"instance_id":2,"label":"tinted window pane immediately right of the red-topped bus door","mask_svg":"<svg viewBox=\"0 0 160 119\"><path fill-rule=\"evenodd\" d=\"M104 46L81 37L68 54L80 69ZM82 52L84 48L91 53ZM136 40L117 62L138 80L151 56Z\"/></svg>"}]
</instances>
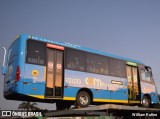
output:
<instances>
[{"instance_id":1,"label":"tinted window pane immediately right of the red-topped bus door","mask_svg":"<svg viewBox=\"0 0 160 119\"><path fill-rule=\"evenodd\" d=\"M74 70L85 70L84 52L67 49L67 68Z\"/></svg>"}]
</instances>

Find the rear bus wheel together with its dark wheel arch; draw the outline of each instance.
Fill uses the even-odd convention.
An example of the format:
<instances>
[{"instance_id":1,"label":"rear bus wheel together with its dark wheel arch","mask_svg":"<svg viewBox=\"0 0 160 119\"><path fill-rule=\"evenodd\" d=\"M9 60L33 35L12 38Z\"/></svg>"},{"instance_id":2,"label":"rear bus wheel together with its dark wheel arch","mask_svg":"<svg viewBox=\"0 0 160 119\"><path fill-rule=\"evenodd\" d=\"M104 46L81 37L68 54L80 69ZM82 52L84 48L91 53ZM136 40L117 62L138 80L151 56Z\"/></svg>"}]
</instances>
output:
<instances>
[{"instance_id":1,"label":"rear bus wheel together with its dark wheel arch","mask_svg":"<svg viewBox=\"0 0 160 119\"><path fill-rule=\"evenodd\" d=\"M92 103L92 101L93 101L93 94L91 90L87 88L82 88L77 93L75 105L80 107L87 107Z\"/></svg>"}]
</instances>

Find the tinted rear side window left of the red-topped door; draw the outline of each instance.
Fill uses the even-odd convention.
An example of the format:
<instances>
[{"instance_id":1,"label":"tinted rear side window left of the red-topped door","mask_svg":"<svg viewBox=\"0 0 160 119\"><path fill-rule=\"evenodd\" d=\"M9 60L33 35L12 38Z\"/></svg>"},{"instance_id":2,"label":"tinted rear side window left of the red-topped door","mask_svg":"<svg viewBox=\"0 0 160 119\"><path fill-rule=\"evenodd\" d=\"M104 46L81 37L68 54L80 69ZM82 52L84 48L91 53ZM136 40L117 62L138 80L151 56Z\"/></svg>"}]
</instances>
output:
<instances>
[{"instance_id":1,"label":"tinted rear side window left of the red-topped door","mask_svg":"<svg viewBox=\"0 0 160 119\"><path fill-rule=\"evenodd\" d=\"M45 64L45 43L27 40L27 63L44 65Z\"/></svg>"}]
</instances>

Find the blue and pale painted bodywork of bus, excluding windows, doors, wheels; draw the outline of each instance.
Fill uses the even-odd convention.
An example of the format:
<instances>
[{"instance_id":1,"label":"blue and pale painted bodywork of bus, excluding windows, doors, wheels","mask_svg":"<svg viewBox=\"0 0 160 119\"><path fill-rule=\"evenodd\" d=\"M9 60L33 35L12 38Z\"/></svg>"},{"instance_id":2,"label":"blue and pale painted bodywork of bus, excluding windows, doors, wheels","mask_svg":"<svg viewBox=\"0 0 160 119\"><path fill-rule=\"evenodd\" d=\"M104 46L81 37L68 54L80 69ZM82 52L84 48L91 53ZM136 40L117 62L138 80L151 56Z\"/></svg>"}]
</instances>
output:
<instances>
[{"instance_id":1,"label":"blue and pale painted bodywork of bus, excluding windows, doors, wheels","mask_svg":"<svg viewBox=\"0 0 160 119\"><path fill-rule=\"evenodd\" d=\"M2 73L5 75L5 86L4 94L9 93L19 93L25 95L45 95L45 71L44 66L26 64L26 41L27 39L34 39L42 42L53 43L60 46L65 46L73 49L78 49L82 51L92 52L104 56L109 56L113 58L122 59L125 61L130 61L138 64L143 64L140 61L124 58L121 56L116 56L109 53L104 53L101 51L93 50L90 48L81 47L79 45L74 45L66 42L57 42L53 40L48 40L36 36L29 36L27 34L22 34L18 39L16 39L12 45L7 50L6 62L8 66L2 68ZM10 58L8 61L8 52L10 52ZM144 64L143 64L144 65ZM20 67L20 80L15 82L16 68ZM38 76L33 76L32 70L37 70L39 72ZM127 89L127 79L113 76L98 75L87 72L79 72L72 70L65 70L64 75L64 97L76 97L78 91L82 88L88 88L95 99L113 99L113 100L127 100L128 99L128 89ZM94 82L90 82L94 80ZM111 81L120 81L123 85L112 84ZM148 87L148 84L141 84L141 99L144 94L149 94L151 96L152 103L158 103L158 96L156 92L155 85L150 86L151 91L145 91L144 87ZM155 89L154 89L155 88Z\"/></svg>"}]
</instances>

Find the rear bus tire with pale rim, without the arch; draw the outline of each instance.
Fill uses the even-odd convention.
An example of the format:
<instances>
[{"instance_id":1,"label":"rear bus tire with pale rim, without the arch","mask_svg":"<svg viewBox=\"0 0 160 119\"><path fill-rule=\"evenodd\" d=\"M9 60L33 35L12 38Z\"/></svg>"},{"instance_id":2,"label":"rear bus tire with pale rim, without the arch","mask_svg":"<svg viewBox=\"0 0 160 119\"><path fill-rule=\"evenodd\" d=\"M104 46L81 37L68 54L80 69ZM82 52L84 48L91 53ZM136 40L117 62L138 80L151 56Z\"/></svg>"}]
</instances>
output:
<instances>
[{"instance_id":1,"label":"rear bus tire with pale rim, without the arch","mask_svg":"<svg viewBox=\"0 0 160 119\"><path fill-rule=\"evenodd\" d=\"M88 107L90 105L91 98L86 91L80 91L77 95L76 105L80 107Z\"/></svg>"}]
</instances>

